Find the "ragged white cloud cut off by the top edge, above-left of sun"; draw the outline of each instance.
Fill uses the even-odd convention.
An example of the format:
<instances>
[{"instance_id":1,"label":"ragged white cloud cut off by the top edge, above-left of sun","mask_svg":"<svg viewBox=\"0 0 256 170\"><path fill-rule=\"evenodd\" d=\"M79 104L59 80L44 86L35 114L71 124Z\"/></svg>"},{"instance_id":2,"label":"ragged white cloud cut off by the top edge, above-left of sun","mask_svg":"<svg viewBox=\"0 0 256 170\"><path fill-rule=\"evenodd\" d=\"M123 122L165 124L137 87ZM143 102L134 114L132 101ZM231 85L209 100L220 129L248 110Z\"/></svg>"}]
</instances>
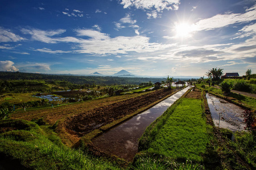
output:
<instances>
[{"instance_id":1,"label":"ragged white cloud cut off by the top edge, above-left of sun","mask_svg":"<svg viewBox=\"0 0 256 170\"><path fill-rule=\"evenodd\" d=\"M179 0L122 0L123 8L135 7L137 9L150 10L155 8L160 12L164 9L177 10L179 7Z\"/></svg>"}]
</instances>

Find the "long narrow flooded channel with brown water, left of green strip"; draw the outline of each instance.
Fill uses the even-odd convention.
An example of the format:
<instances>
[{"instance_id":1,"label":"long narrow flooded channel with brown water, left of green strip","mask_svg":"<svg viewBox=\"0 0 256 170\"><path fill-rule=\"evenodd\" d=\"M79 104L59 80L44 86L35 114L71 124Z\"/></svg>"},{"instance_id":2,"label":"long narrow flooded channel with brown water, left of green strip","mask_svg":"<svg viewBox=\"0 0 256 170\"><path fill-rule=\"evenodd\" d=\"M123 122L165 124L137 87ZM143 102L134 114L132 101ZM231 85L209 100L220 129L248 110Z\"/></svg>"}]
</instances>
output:
<instances>
[{"instance_id":1,"label":"long narrow flooded channel with brown water, left of green strip","mask_svg":"<svg viewBox=\"0 0 256 170\"><path fill-rule=\"evenodd\" d=\"M161 116L189 88L191 87L184 88L147 111L137 114L130 120L94 138L92 140L93 145L108 154L132 161L134 155L138 152L139 138L147 126Z\"/></svg>"}]
</instances>

